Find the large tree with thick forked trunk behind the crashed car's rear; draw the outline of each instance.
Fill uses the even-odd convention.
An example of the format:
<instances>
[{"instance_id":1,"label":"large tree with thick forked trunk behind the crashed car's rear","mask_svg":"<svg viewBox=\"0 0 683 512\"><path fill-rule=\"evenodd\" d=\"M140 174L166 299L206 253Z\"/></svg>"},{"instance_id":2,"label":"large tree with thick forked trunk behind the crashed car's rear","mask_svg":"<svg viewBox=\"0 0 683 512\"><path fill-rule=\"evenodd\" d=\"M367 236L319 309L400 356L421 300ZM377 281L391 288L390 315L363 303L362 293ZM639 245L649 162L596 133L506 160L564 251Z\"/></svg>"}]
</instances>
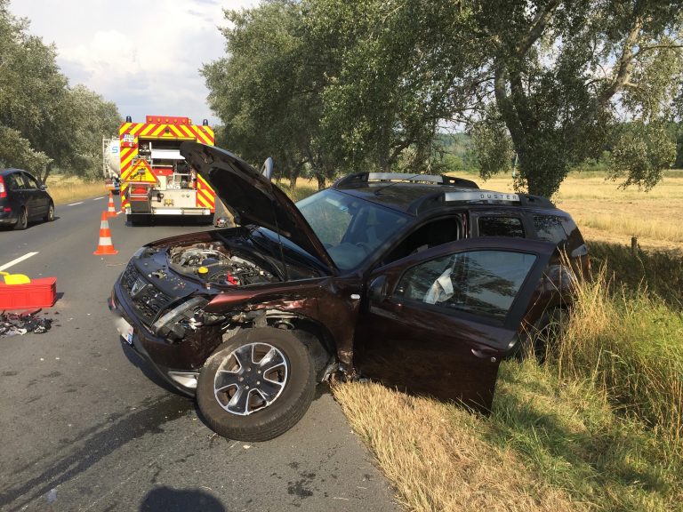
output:
<instances>
[{"instance_id":1,"label":"large tree with thick forked trunk behind the crashed car's rear","mask_svg":"<svg viewBox=\"0 0 683 512\"><path fill-rule=\"evenodd\" d=\"M518 156L518 185L550 196L573 164L615 147L613 172L651 187L672 164L661 124L681 66L681 3L477 2L497 117ZM641 129L616 133L623 120ZM649 150L640 162L634 133ZM626 157L623 157L626 156Z\"/></svg>"}]
</instances>

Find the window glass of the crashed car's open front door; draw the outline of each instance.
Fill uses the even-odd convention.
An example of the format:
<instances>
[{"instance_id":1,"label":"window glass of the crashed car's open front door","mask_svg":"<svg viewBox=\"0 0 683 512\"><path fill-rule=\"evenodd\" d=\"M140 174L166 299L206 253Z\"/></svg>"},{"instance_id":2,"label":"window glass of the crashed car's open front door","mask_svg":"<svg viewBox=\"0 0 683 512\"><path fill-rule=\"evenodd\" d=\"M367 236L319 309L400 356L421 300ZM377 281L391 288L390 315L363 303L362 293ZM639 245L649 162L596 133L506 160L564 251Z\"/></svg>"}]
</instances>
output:
<instances>
[{"instance_id":1,"label":"window glass of the crashed car's open front door","mask_svg":"<svg viewBox=\"0 0 683 512\"><path fill-rule=\"evenodd\" d=\"M504 320L536 256L526 252L460 252L406 270L395 296Z\"/></svg>"}]
</instances>

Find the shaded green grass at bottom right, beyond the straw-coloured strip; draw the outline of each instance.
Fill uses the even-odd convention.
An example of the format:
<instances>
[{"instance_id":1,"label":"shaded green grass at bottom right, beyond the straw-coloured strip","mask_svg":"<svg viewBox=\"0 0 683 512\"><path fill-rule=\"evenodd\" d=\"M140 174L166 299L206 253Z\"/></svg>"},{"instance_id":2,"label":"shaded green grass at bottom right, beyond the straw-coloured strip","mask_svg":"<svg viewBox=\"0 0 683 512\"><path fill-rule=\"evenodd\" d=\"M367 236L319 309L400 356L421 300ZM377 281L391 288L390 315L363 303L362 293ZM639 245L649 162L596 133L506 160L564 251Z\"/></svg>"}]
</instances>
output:
<instances>
[{"instance_id":1,"label":"shaded green grass at bottom right, beyond the straw-coloured strip","mask_svg":"<svg viewBox=\"0 0 683 512\"><path fill-rule=\"evenodd\" d=\"M591 378L560 378L556 370L502 364L494 412L481 436L514 452L576 508L680 510L674 447L639 420L623 417Z\"/></svg>"}]
</instances>

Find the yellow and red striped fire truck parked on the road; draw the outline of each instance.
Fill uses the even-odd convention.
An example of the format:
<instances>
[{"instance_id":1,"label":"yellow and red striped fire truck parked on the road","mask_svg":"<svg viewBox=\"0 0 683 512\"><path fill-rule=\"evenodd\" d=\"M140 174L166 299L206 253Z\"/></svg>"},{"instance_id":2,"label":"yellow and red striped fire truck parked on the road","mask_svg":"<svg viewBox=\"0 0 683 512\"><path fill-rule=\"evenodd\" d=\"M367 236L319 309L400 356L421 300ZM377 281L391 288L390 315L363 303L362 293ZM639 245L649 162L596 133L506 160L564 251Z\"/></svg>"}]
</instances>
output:
<instances>
[{"instance_id":1,"label":"yellow and red striped fire truck parked on the road","mask_svg":"<svg viewBox=\"0 0 683 512\"><path fill-rule=\"evenodd\" d=\"M204 120L147 116L133 123L130 116L119 128L121 209L130 224L156 215L191 216L213 222L216 194L181 156L184 140L213 146L213 130Z\"/></svg>"}]
</instances>

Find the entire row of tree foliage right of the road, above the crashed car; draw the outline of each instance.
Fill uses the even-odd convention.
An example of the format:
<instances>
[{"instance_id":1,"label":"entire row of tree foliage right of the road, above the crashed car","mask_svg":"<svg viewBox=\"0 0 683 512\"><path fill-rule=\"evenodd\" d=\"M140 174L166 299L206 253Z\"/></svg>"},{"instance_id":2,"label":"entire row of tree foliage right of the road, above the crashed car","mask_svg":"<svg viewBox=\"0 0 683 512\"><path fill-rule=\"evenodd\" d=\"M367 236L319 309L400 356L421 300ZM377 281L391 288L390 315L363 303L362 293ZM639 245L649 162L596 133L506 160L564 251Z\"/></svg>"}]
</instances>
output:
<instances>
[{"instance_id":1,"label":"entire row of tree foliage right of the road, above the crashed car","mask_svg":"<svg viewBox=\"0 0 683 512\"><path fill-rule=\"evenodd\" d=\"M422 172L439 126L464 125L482 173L516 161L519 189L550 196L606 149L650 188L675 158L682 4L269 0L226 12L203 73L229 147L294 175Z\"/></svg>"}]
</instances>

